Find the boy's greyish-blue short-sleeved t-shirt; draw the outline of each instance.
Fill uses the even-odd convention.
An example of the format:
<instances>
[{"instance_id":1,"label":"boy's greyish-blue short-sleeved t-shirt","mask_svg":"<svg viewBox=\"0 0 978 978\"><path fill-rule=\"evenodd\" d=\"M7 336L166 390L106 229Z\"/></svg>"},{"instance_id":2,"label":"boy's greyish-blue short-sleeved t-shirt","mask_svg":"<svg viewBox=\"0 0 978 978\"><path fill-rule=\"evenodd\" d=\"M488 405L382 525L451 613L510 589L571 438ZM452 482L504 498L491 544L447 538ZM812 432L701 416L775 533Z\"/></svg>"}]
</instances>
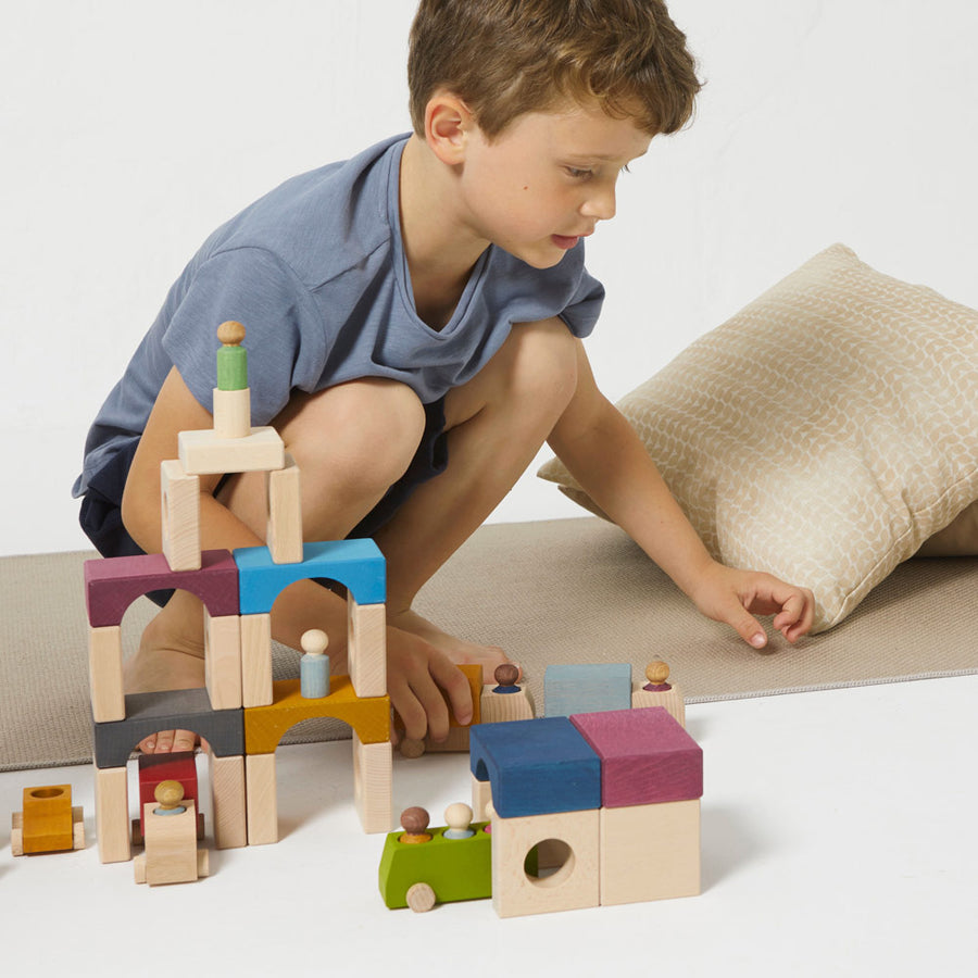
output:
<instances>
[{"instance_id":1,"label":"boy's greyish-blue short-sleeved t-shirt","mask_svg":"<svg viewBox=\"0 0 978 978\"><path fill-rule=\"evenodd\" d=\"M208 238L99 411L76 497L141 436L171 367L212 411L225 319L247 330L253 425L268 424L296 389L363 377L400 380L432 403L475 376L514 323L559 315L577 337L594 328L604 289L584 266L584 242L546 269L490 246L449 323L426 325L401 240L406 141L293 177Z\"/></svg>"}]
</instances>

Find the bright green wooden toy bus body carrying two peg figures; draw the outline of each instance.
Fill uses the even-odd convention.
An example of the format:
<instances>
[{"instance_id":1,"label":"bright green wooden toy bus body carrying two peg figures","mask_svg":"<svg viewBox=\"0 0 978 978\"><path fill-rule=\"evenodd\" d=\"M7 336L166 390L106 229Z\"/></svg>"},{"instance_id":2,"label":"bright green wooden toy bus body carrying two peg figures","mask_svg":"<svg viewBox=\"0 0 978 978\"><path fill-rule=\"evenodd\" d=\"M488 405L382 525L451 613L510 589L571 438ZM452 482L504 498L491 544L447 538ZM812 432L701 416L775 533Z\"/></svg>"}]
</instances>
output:
<instances>
[{"instance_id":1,"label":"bright green wooden toy bus body carrying two peg figures","mask_svg":"<svg viewBox=\"0 0 978 978\"><path fill-rule=\"evenodd\" d=\"M408 890L427 883L439 903L486 900L492 895L491 836L488 823L474 822L468 839L446 839L444 828L429 828L430 842L401 842L391 832L380 856L380 895L391 908L408 906Z\"/></svg>"}]
</instances>

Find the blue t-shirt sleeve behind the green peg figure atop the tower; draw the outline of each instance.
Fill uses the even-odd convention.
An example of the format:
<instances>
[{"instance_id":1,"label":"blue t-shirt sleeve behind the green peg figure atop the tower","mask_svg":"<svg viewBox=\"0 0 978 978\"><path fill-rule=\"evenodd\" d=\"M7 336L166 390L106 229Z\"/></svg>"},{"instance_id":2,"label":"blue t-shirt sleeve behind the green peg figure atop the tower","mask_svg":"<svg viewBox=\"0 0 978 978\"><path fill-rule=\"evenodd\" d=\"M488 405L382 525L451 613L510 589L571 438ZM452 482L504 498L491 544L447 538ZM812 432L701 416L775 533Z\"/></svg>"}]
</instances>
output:
<instances>
[{"instance_id":1,"label":"blue t-shirt sleeve behind the green peg figure atop the tower","mask_svg":"<svg viewBox=\"0 0 978 978\"><path fill-rule=\"evenodd\" d=\"M251 422L264 425L292 388L312 390L325 359L322 321L308 289L285 263L261 248L218 252L193 272L163 336L163 348L190 392L213 411L217 327L246 329ZM300 350L302 358L300 359Z\"/></svg>"}]
</instances>

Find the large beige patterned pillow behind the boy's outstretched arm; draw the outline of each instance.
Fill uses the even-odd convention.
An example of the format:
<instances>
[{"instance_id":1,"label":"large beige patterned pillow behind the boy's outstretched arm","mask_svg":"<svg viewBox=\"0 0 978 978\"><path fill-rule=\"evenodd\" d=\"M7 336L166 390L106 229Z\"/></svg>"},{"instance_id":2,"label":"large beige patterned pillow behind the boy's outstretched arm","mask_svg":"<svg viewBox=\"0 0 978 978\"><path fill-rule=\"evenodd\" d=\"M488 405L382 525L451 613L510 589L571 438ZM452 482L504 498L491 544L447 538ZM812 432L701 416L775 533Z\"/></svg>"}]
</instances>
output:
<instances>
[{"instance_id":1,"label":"large beige patterned pillow behind the boy's outstretched arm","mask_svg":"<svg viewBox=\"0 0 978 978\"><path fill-rule=\"evenodd\" d=\"M810 587L823 631L978 499L978 312L836 244L617 406L711 553Z\"/></svg>"}]
</instances>

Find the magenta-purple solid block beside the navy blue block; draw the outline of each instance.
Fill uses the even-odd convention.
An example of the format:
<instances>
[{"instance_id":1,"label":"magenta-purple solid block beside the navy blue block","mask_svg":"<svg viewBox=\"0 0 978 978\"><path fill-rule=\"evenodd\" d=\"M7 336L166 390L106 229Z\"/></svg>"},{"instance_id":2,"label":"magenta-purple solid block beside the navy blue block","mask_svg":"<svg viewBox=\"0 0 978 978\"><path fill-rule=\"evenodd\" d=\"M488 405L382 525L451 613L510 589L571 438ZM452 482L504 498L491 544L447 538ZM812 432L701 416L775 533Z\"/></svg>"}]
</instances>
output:
<instances>
[{"instance_id":1,"label":"magenta-purple solid block beside the navy blue block","mask_svg":"<svg viewBox=\"0 0 978 978\"><path fill-rule=\"evenodd\" d=\"M664 707L577 713L570 723L601 758L605 808L703 794L703 750Z\"/></svg>"}]
</instances>

